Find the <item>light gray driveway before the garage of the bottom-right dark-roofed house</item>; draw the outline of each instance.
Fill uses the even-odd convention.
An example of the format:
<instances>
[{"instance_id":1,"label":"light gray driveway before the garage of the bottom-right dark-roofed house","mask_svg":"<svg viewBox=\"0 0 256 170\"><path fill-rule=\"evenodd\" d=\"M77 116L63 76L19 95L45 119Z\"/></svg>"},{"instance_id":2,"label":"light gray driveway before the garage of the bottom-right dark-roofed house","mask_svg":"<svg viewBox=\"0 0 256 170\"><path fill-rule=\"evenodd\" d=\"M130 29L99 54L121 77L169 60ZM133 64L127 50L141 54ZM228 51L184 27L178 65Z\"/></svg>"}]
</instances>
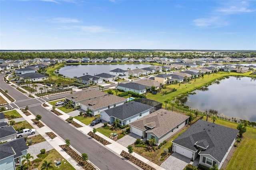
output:
<instances>
[{"instance_id":1,"label":"light gray driveway before the garage of the bottom-right dark-roofed house","mask_svg":"<svg viewBox=\"0 0 256 170\"><path fill-rule=\"evenodd\" d=\"M199 164L199 159L196 158L196 160L192 162L190 158L174 152L161 164L161 167L166 170L183 170L187 164L192 164L193 166L197 167L197 164Z\"/></svg>"}]
</instances>

